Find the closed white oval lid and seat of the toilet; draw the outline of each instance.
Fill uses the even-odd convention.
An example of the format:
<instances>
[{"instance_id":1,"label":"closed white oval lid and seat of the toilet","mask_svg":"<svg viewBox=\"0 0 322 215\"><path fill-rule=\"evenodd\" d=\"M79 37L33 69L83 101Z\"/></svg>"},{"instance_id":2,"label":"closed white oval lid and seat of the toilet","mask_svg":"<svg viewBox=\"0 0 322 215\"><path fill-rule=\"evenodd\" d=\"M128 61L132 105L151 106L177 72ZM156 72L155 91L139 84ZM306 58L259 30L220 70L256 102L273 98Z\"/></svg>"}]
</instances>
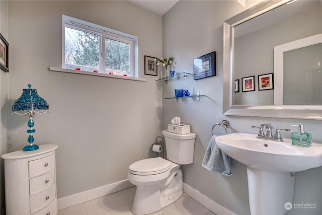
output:
<instances>
[{"instance_id":1,"label":"closed white oval lid and seat of the toilet","mask_svg":"<svg viewBox=\"0 0 322 215\"><path fill-rule=\"evenodd\" d=\"M129 166L130 172L140 175L152 175L169 170L171 162L163 158L148 158L137 161Z\"/></svg>"}]
</instances>

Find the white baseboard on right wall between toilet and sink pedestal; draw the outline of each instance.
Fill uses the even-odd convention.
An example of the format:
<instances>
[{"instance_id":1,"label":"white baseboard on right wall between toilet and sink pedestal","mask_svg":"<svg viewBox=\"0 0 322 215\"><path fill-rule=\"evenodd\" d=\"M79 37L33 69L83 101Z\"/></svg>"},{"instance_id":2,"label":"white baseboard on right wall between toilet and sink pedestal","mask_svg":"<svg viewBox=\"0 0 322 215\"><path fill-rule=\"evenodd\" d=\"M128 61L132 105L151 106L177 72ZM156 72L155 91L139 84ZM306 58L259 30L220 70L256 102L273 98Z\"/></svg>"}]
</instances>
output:
<instances>
[{"instance_id":1,"label":"white baseboard on right wall between toilet and sink pedestal","mask_svg":"<svg viewBox=\"0 0 322 215\"><path fill-rule=\"evenodd\" d=\"M202 194L198 190L189 186L186 183L183 183L183 192L189 195L191 198L198 201L203 206L207 207L212 212L217 215L237 215L237 213L232 212L231 210L225 208L224 206L218 204L214 200L210 199L208 196Z\"/></svg>"}]
</instances>

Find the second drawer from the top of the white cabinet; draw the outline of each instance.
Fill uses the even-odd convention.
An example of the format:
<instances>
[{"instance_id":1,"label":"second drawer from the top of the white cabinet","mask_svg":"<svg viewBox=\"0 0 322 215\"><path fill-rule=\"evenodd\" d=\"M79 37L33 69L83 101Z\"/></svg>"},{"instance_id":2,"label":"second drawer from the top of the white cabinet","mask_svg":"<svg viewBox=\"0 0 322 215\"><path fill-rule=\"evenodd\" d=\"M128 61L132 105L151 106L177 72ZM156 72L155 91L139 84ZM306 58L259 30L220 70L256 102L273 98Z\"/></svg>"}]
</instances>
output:
<instances>
[{"instance_id":1,"label":"second drawer from the top of the white cabinet","mask_svg":"<svg viewBox=\"0 0 322 215\"><path fill-rule=\"evenodd\" d=\"M36 178L29 179L30 195L37 194L55 182L55 169L52 169L49 173L38 176Z\"/></svg>"}]
</instances>

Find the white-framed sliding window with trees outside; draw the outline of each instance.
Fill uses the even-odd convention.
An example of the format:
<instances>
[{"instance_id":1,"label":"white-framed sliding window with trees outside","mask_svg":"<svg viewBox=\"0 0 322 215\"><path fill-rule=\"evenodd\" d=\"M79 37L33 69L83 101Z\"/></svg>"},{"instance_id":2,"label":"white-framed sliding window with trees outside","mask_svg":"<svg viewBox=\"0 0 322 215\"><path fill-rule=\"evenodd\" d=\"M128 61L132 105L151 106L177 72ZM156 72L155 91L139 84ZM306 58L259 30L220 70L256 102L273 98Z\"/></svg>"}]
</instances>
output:
<instances>
[{"instance_id":1,"label":"white-framed sliding window with trees outside","mask_svg":"<svg viewBox=\"0 0 322 215\"><path fill-rule=\"evenodd\" d=\"M137 37L63 15L64 68L137 77Z\"/></svg>"}]
</instances>

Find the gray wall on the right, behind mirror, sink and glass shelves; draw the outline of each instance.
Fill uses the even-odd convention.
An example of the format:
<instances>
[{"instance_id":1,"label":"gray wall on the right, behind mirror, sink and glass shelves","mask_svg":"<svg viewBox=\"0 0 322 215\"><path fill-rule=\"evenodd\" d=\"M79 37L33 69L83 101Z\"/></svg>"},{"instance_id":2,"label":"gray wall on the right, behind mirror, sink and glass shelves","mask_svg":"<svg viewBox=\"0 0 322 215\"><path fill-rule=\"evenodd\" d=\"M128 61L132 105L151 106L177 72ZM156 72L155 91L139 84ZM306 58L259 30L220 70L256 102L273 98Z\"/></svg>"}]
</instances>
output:
<instances>
[{"instance_id":1,"label":"gray wall on the right, behind mirror, sink and glass shelves","mask_svg":"<svg viewBox=\"0 0 322 215\"><path fill-rule=\"evenodd\" d=\"M164 100L163 128L175 116L180 116L184 124L190 124L197 134L194 163L183 165L184 182L207 195L219 204L237 214L250 214L248 200L248 182L246 166L232 160L232 176L226 177L201 167L205 149L211 138L211 127L227 119L230 122L228 132L257 133L252 125L271 122L275 128L290 128L291 124L304 123L306 131L311 132L314 141L321 142L321 122L315 120L273 119L260 117L237 117L222 115L222 49L224 20L245 10L237 1L180 1L163 17L163 56L175 57L171 67L176 71L187 69L193 72L193 58L216 51L217 75L206 79L172 80L163 84L164 97L174 96L174 89L193 89L207 95L200 101L192 98ZM223 134L224 129L215 127L215 134ZM290 137L290 133L285 133ZM322 168L296 173L294 203L317 203L317 209L292 209L288 214L321 214L321 177ZM273 206L273 205L272 205Z\"/></svg>"}]
</instances>

